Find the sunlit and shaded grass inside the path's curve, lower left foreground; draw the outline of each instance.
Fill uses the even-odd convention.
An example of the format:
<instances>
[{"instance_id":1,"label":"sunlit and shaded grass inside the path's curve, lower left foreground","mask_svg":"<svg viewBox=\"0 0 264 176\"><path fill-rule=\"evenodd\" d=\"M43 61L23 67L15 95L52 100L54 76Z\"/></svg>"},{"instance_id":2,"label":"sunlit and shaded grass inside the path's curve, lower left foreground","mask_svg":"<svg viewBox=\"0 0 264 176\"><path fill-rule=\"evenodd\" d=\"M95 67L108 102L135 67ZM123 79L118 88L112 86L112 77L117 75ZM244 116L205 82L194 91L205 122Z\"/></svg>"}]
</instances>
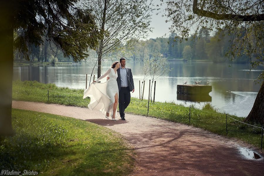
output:
<instances>
[{"instance_id":1,"label":"sunlit and shaded grass inside the path's curve, lower left foreground","mask_svg":"<svg viewBox=\"0 0 264 176\"><path fill-rule=\"evenodd\" d=\"M0 140L0 170L40 175L128 175L134 153L121 135L70 117L12 110L15 135Z\"/></svg>"}]
</instances>

